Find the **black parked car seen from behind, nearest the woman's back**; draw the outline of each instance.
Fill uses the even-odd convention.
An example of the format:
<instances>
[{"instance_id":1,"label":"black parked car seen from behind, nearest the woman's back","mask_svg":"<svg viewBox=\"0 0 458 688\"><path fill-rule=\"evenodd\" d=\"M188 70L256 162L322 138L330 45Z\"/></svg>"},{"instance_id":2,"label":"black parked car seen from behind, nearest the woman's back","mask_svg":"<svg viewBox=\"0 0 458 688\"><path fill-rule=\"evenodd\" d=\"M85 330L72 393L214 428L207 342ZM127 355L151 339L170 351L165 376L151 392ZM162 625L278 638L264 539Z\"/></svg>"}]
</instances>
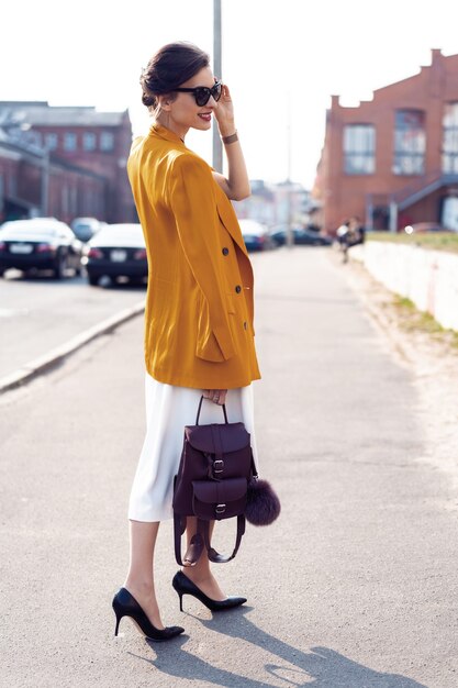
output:
<instances>
[{"instance_id":1,"label":"black parked car seen from behind, nearest the woman's back","mask_svg":"<svg viewBox=\"0 0 458 688\"><path fill-rule=\"evenodd\" d=\"M142 225L107 224L86 244L82 263L92 286L102 276L143 282L148 276L148 263Z\"/></svg>"}]
</instances>

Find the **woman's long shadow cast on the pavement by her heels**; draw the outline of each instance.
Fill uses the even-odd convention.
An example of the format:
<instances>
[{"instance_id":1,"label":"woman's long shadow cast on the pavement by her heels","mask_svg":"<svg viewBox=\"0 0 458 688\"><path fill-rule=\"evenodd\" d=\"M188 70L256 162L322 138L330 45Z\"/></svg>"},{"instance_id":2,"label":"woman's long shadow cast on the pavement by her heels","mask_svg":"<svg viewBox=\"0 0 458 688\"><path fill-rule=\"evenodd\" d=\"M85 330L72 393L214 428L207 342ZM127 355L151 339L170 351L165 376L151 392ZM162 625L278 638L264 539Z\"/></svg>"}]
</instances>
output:
<instances>
[{"instance_id":1,"label":"woman's long shadow cast on the pavement by her heels","mask_svg":"<svg viewBox=\"0 0 458 688\"><path fill-rule=\"evenodd\" d=\"M287 663L264 665L266 674L272 679L275 677L275 684L268 683L268 676L266 676L267 680L247 678L244 675L215 667L186 652L182 648L187 642L186 636L180 636L176 642L160 648L157 644L148 643L157 652L155 659L130 654L149 663L163 674L227 688L242 686L243 688L276 688L279 679L283 680L286 686L298 688L309 686L315 688L427 688L424 684L418 684L405 676L375 672L329 647L311 647L310 652L298 650L257 628L245 618L244 613L248 611L250 611L248 607L234 610L225 613L224 618L219 615L210 621L202 621L202 624L209 630L257 645ZM252 656L247 654L247 665ZM259 668L252 666L252 669L256 672L259 672Z\"/></svg>"}]
</instances>

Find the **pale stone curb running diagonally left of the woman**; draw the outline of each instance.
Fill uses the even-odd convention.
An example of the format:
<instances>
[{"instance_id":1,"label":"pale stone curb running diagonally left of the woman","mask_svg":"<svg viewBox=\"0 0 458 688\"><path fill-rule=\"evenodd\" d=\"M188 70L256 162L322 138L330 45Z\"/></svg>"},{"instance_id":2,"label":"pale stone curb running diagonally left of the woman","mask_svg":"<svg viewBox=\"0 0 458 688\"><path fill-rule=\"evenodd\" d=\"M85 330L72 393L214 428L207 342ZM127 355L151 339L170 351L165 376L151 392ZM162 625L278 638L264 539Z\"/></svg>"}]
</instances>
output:
<instances>
[{"instance_id":1,"label":"pale stone curb running diagonally left of the woman","mask_svg":"<svg viewBox=\"0 0 458 688\"><path fill-rule=\"evenodd\" d=\"M89 328L89 330L85 330L81 334L72 337L65 344L53 348L51 352L45 354L44 356L40 356L38 358L34 358L34 360L30 360L29 363L21 366L2 378L0 378L0 395L9 391L10 389L15 389L16 387L22 387L26 385L31 380L33 380L38 375L51 370L59 363L62 363L67 356L75 353L92 340L96 340L98 336L102 334L107 334L115 330L119 325L133 318L136 318L145 310L145 301L139 301L132 308L126 308L123 311L120 311L115 315L111 318L107 318L98 325Z\"/></svg>"}]
</instances>

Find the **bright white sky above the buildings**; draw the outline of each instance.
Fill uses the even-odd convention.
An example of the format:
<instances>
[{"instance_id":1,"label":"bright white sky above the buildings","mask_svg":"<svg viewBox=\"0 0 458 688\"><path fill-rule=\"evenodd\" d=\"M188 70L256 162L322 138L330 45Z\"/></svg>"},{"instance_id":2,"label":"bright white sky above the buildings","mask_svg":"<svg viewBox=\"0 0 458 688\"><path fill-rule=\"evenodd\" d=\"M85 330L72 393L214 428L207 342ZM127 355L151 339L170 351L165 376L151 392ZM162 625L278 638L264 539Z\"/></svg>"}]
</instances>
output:
<instances>
[{"instance_id":1,"label":"bright white sky above the buildings","mask_svg":"<svg viewBox=\"0 0 458 688\"><path fill-rule=\"evenodd\" d=\"M22 0L2 8L0 100L129 109L150 121L142 67L165 43L212 54L213 0ZM331 95L344 106L417 74L431 48L458 53L455 0L222 0L223 80L252 179L311 188ZM211 163L211 134L187 145Z\"/></svg>"}]
</instances>

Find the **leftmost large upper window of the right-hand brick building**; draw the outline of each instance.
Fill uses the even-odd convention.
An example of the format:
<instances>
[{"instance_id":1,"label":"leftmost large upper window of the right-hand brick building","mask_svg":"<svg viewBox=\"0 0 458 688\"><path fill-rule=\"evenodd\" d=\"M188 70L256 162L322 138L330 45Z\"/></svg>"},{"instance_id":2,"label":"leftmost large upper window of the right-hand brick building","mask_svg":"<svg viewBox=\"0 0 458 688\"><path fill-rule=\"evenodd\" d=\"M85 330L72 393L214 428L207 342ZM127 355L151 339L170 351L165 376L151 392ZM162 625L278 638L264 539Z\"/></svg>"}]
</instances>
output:
<instances>
[{"instance_id":1,"label":"leftmost large upper window of the right-hand brick building","mask_svg":"<svg viewBox=\"0 0 458 688\"><path fill-rule=\"evenodd\" d=\"M344 169L347 175L372 175L376 171L376 127L372 124L345 126Z\"/></svg>"}]
</instances>

